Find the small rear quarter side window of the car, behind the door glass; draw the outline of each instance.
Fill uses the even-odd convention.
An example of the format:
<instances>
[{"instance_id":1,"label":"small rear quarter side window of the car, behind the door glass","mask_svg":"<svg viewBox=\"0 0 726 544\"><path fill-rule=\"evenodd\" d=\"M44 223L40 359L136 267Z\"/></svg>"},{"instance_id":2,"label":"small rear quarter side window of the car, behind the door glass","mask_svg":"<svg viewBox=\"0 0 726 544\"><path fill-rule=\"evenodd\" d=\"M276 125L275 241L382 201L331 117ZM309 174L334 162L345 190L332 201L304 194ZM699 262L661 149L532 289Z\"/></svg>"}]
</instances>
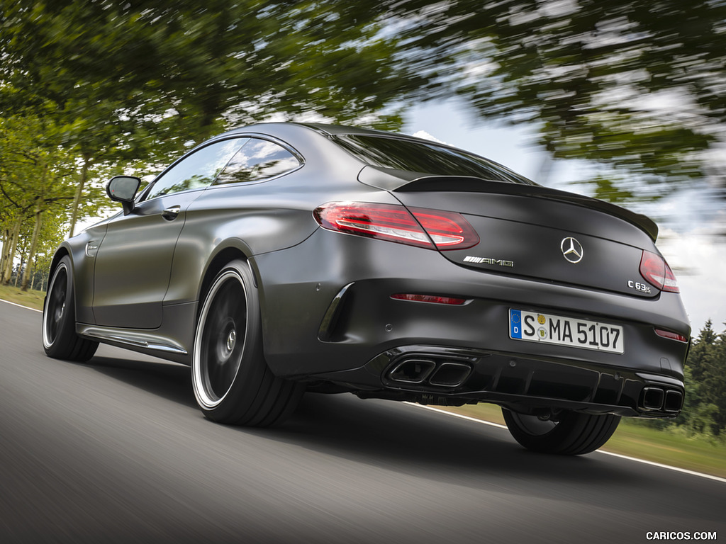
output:
<instances>
[{"instance_id":1,"label":"small rear quarter side window of the car, behind the door glass","mask_svg":"<svg viewBox=\"0 0 726 544\"><path fill-rule=\"evenodd\" d=\"M250 138L232 157L214 182L215 185L261 181L295 170L301 162L287 149L272 141Z\"/></svg>"}]
</instances>

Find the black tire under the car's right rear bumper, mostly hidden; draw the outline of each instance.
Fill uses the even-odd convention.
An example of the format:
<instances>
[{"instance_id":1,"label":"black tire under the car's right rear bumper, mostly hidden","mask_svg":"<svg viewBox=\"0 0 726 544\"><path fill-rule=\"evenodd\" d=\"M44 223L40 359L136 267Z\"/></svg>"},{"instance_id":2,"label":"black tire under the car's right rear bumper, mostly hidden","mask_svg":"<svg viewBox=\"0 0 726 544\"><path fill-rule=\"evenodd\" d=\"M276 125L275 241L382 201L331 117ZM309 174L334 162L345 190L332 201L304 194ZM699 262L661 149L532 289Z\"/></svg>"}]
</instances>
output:
<instances>
[{"instance_id":1,"label":"black tire under the car's right rear bumper, mostly hidden","mask_svg":"<svg viewBox=\"0 0 726 544\"><path fill-rule=\"evenodd\" d=\"M528 450L579 456L600 448L617 429L620 416L562 411L558 421L516 413L502 408L507 428Z\"/></svg>"}]
</instances>

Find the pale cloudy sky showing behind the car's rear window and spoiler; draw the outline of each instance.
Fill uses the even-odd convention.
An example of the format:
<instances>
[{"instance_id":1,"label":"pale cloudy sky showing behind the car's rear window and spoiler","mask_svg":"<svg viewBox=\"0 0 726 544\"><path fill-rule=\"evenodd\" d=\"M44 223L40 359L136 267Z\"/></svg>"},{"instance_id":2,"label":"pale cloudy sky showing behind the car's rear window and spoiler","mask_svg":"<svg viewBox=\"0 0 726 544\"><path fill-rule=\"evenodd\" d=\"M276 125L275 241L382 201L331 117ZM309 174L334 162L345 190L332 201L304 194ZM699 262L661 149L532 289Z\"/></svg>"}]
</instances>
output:
<instances>
[{"instance_id":1,"label":"pale cloudy sky showing behind the car's rear window and spoiler","mask_svg":"<svg viewBox=\"0 0 726 544\"><path fill-rule=\"evenodd\" d=\"M539 172L547 155L534 143L532 128L485 122L457 102L434 102L411 110L402 132L419 133L417 136L428 133L541 181ZM546 185L578 191L570 182L576 181L584 168L588 168L584 162L557 161ZM713 225L703 223L708 217L711 222L726 224L726 210L721 201L717 205L714 208L712 200L701 197L701 191L679 194L658 205L658 214L670 220L667 225L658 225L657 246L676 273L694 336L707 319L717 332L726 327L726 240L709 235Z\"/></svg>"}]
</instances>

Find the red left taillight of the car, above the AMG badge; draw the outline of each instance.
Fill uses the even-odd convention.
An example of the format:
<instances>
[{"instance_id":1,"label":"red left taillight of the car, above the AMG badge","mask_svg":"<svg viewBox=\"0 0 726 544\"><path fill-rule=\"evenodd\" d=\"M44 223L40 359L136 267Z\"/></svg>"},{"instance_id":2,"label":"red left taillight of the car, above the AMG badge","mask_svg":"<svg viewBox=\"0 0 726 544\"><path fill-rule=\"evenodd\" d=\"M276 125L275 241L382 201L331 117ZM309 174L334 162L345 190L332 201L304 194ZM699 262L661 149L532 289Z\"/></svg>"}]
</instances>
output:
<instances>
[{"instance_id":1,"label":"red left taillight of the car, above the AMG badge","mask_svg":"<svg viewBox=\"0 0 726 544\"><path fill-rule=\"evenodd\" d=\"M367 236L429 250L464 250L479 243L459 213L367 202L329 202L313 215L330 231ZM433 241L433 244L431 243Z\"/></svg>"}]
</instances>

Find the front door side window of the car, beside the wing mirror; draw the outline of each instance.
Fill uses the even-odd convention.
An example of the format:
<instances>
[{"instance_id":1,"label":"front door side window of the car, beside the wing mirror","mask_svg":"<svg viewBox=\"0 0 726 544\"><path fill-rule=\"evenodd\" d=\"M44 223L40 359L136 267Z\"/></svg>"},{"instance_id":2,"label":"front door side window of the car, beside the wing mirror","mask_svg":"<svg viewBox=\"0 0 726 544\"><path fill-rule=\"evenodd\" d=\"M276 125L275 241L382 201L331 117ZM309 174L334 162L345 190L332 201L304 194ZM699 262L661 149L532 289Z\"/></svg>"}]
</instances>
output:
<instances>
[{"instance_id":1,"label":"front door side window of the car, beside the wing mirror","mask_svg":"<svg viewBox=\"0 0 726 544\"><path fill-rule=\"evenodd\" d=\"M217 141L184 157L156 179L146 199L211 185L224 165L247 141L248 138Z\"/></svg>"}]
</instances>

